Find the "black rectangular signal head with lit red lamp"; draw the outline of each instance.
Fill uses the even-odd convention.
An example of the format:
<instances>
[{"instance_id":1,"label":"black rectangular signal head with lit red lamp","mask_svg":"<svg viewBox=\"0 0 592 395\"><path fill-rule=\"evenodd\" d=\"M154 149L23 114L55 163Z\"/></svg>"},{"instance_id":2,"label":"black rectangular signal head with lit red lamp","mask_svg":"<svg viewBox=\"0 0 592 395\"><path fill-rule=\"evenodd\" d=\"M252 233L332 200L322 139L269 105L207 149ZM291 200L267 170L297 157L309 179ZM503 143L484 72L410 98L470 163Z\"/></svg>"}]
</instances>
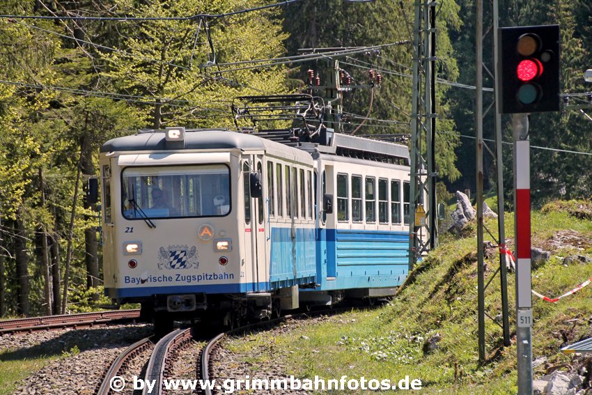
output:
<instances>
[{"instance_id":1,"label":"black rectangular signal head with lit red lamp","mask_svg":"<svg viewBox=\"0 0 592 395\"><path fill-rule=\"evenodd\" d=\"M559 25L499 29L502 113L559 111Z\"/></svg>"}]
</instances>

